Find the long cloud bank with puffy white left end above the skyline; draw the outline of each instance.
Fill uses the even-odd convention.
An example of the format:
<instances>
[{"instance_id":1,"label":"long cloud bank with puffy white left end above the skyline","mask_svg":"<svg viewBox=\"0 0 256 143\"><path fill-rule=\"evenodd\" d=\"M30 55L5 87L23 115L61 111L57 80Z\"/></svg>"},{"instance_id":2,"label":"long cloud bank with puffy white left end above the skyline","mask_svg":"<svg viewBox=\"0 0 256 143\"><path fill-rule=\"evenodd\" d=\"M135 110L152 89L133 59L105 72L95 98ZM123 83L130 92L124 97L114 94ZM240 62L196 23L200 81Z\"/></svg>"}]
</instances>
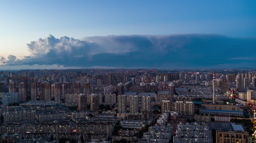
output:
<instances>
[{"instance_id":1,"label":"long cloud bank with puffy white left end above the skyline","mask_svg":"<svg viewBox=\"0 0 256 143\"><path fill-rule=\"evenodd\" d=\"M237 68L256 67L256 39L214 34L108 35L60 39L48 35L27 44L29 56L1 57L4 66Z\"/></svg>"}]
</instances>

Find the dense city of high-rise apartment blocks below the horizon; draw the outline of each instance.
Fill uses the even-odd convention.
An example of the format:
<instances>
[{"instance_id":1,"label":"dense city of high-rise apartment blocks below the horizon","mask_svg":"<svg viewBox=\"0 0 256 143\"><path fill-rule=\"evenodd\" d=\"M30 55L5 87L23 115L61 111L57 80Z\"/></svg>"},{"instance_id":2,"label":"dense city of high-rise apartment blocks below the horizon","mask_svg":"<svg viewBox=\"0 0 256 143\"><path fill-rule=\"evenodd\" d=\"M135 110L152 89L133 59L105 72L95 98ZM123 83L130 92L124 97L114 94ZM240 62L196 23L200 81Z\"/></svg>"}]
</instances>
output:
<instances>
[{"instance_id":1,"label":"dense city of high-rise apartment blocks below the horizon","mask_svg":"<svg viewBox=\"0 0 256 143\"><path fill-rule=\"evenodd\" d=\"M249 143L256 70L0 71L1 142Z\"/></svg>"}]
</instances>

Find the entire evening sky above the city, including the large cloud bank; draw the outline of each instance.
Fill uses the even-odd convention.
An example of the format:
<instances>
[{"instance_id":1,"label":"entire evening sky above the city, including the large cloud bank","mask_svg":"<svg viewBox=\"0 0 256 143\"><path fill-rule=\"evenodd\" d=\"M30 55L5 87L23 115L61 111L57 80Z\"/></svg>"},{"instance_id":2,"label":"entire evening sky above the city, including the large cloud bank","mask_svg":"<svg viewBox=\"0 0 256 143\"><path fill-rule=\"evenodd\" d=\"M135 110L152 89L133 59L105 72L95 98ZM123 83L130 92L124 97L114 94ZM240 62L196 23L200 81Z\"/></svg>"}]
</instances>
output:
<instances>
[{"instance_id":1,"label":"entire evening sky above the city, including the large cloud bank","mask_svg":"<svg viewBox=\"0 0 256 143\"><path fill-rule=\"evenodd\" d=\"M256 67L256 1L0 0L0 69Z\"/></svg>"}]
</instances>

